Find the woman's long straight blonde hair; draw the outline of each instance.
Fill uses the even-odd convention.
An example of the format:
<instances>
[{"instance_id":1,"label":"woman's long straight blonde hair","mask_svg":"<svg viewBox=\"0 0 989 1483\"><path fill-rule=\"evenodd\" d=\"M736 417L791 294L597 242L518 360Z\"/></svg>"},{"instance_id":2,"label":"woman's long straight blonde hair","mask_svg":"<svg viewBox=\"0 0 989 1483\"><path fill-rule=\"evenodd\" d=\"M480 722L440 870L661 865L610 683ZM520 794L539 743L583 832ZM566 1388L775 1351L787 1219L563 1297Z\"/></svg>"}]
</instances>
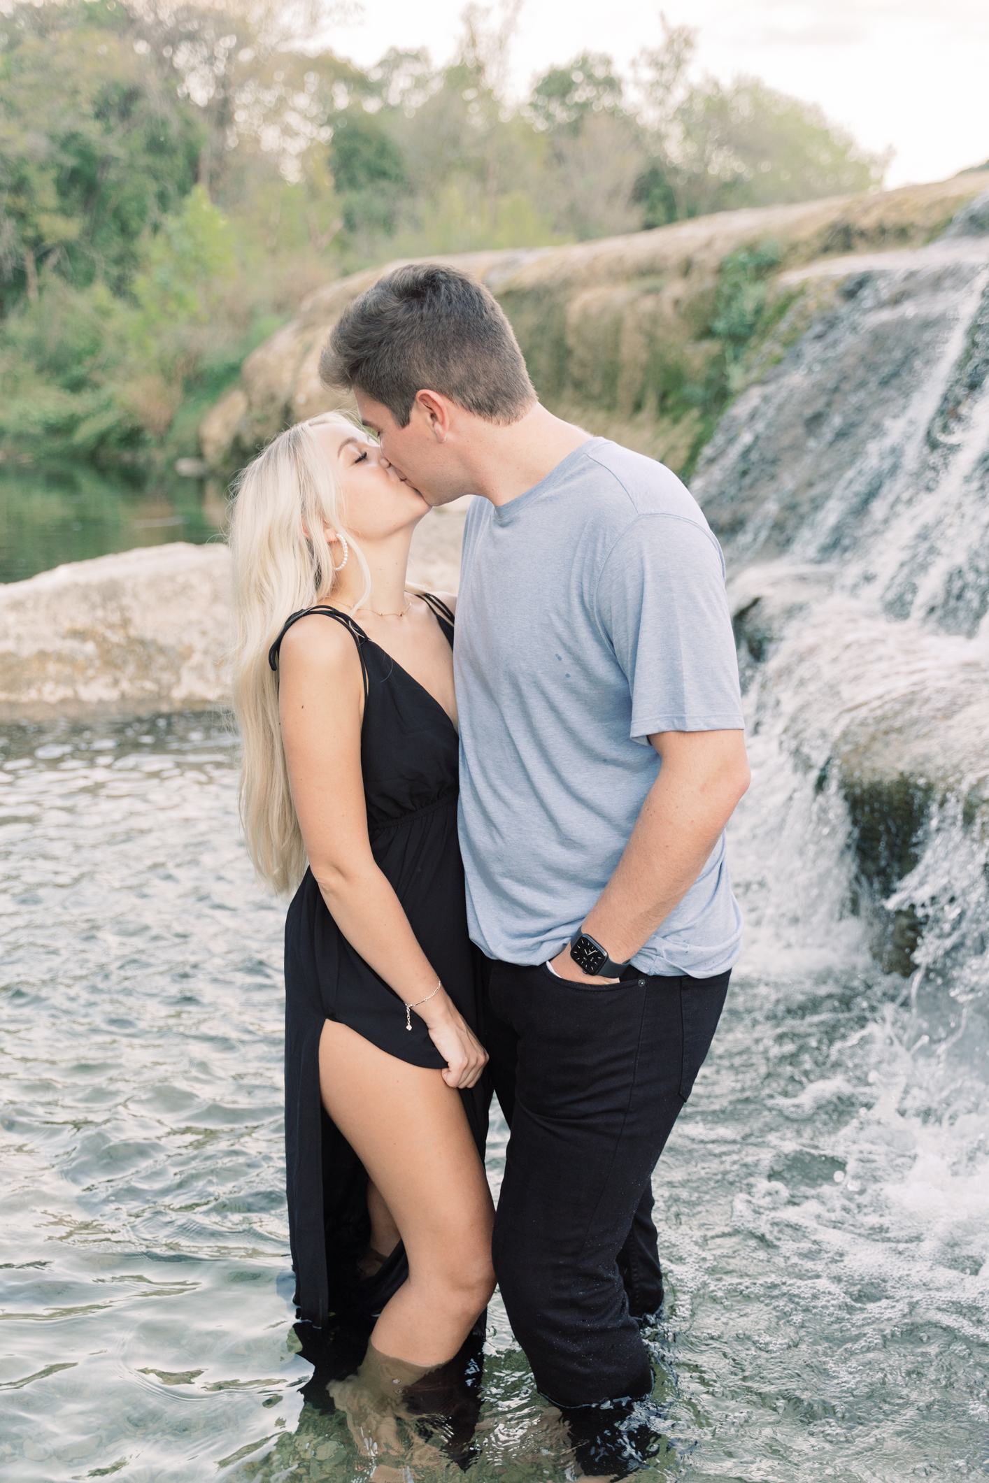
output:
<instances>
[{"instance_id":1,"label":"woman's long straight blonde hair","mask_svg":"<svg viewBox=\"0 0 989 1483\"><path fill-rule=\"evenodd\" d=\"M325 601L338 583L323 521L347 535L350 561L363 553L347 532L345 509L332 461L311 429L351 429L343 412L326 412L279 433L237 479L230 518L233 556L233 703L240 725L240 822L261 881L292 891L305 873L305 845L289 787L279 721L279 678L268 650L285 620ZM308 534L307 534L308 532Z\"/></svg>"}]
</instances>

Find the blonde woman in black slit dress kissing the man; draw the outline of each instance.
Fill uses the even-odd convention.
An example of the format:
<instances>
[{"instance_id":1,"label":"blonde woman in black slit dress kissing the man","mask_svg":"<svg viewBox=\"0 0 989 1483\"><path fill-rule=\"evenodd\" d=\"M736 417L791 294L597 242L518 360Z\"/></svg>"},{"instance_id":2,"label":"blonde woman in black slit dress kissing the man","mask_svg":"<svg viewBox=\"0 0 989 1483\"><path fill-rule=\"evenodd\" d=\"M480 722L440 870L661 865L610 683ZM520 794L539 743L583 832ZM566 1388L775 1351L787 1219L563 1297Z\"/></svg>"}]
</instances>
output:
<instances>
[{"instance_id":1,"label":"blonde woman in black slit dress kissing the man","mask_svg":"<svg viewBox=\"0 0 989 1483\"><path fill-rule=\"evenodd\" d=\"M285 927L297 1304L320 1326L377 1314L369 1352L431 1369L461 1348L494 1274L455 599L406 590L427 510L328 414L248 467L230 544L245 836L264 881L298 887Z\"/></svg>"}]
</instances>

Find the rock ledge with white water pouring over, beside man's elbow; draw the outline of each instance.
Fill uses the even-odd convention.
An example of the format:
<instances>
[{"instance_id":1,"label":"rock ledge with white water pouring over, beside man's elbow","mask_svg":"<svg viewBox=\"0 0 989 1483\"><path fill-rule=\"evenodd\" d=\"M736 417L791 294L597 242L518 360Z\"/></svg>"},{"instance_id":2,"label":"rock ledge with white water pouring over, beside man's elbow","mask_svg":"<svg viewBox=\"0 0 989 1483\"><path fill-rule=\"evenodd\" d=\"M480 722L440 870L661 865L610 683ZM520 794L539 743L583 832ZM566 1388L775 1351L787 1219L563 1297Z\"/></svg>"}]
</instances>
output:
<instances>
[{"instance_id":1,"label":"rock ledge with white water pouring over, beside man's elbow","mask_svg":"<svg viewBox=\"0 0 989 1483\"><path fill-rule=\"evenodd\" d=\"M939 823L956 819L973 857L986 857L989 635L890 623L838 583L835 567L781 561L740 572L730 586L738 667L752 733L774 739L816 795L842 799L854 915L869 921L884 971L909 977L927 909L904 884ZM950 868L962 896L967 868Z\"/></svg>"}]
</instances>

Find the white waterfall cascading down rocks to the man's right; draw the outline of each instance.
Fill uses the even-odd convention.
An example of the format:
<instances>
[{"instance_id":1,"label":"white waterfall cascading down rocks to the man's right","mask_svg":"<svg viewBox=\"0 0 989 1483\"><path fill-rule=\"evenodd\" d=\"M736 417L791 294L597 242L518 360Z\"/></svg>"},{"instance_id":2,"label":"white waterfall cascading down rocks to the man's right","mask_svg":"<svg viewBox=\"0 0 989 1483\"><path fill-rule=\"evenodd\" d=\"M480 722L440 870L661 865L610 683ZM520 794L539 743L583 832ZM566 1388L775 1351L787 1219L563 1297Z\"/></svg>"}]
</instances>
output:
<instances>
[{"instance_id":1,"label":"white waterfall cascading down rocks to the man's right","mask_svg":"<svg viewBox=\"0 0 989 1483\"><path fill-rule=\"evenodd\" d=\"M694 482L732 572L752 961L870 955L906 980L907 1035L983 1075L988 217L989 193L927 248L789 274L823 307Z\"/></svg>"}]
</instances>

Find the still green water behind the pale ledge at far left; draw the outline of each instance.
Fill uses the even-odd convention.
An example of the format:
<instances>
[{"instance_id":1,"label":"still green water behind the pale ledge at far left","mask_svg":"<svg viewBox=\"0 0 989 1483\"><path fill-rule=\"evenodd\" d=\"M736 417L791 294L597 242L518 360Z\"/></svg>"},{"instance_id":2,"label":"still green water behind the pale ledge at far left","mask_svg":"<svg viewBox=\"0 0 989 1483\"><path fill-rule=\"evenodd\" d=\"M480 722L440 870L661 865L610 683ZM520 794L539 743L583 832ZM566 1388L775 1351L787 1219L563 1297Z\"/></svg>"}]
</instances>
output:
<instances>
[{"instance_id":1,"label":"still green water behind the pale ledge at far left","mask_svg":"<svg viewBox=\"0 0 989 1483\"><path fill-rule=\"evenodd\" d=\"M225 510L219 480L125 478L92 464L0 464L0 581L165 541L202 544Z\"/></svg>"}]
</instances>

